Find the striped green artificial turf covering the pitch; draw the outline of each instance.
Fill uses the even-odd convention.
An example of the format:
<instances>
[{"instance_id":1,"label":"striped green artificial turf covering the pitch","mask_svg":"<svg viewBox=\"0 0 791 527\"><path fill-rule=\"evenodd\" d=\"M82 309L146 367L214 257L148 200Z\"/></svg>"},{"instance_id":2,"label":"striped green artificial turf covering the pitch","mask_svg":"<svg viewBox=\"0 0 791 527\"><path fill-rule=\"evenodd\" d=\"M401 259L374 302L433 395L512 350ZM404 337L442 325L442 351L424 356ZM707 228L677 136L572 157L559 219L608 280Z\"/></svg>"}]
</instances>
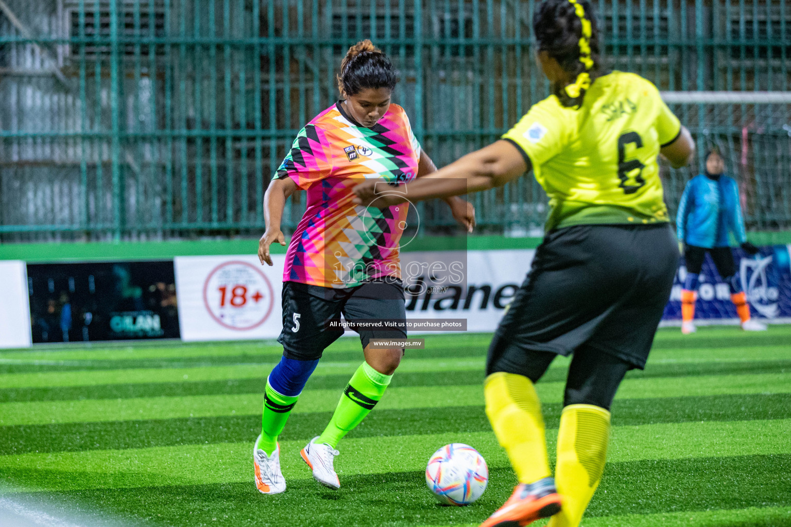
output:
<instances>
[{"instance_id":1,"label":"striped green artificial turf covering the pitch","mask_svg":"<svg viewBox=\"0 0 791 527\"><path fill-rule=\"evenodd\" d=\"M426 338L340 444L339 491L298 451L327 423L361 362L342 339L281 437L288 490L252 483L252 441L273 342L78 344L0 352L0 494L58 516L127 525L477 525L516 480L483 412L486 334ZM547 445L566 359L539 382ZM611 446L583 525L791 526L791 326L657 334L612 408ZM426 460L447 442L486 457L490 484L467 507L439 506ZM538 525L541 525L540 523Z\"/></svg>"}]
</instances>

